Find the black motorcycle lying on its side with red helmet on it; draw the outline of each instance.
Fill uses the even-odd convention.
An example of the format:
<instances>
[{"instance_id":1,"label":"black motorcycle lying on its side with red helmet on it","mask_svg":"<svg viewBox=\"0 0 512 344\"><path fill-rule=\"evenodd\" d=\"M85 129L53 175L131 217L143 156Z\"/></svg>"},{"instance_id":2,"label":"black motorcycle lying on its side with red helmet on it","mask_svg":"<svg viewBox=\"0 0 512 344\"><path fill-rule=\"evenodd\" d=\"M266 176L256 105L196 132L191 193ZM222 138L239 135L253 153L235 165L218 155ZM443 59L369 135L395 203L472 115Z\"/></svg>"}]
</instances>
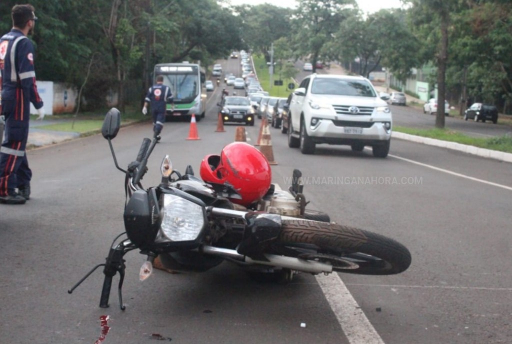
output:
<instances>
[{"instance_id":1,"label":"black motorcycle lying on its side with red helmet on it","mask_svg":"<svg viewBox=\"0 0 512 344\"><path fill-rule=\"evenodd\" d=\"M119 273L119 304L124 310L124 256L135 249L147 256L140 280L151 275L156 259L163 268L181 272L206 271L229 261L253 276L273 276L281 283L298 272L385 275L400 273L411 264L409 250L397 241L306 210L300 171L293 171L289 191L271 185L266 158L243 142L227 145L220 156L206 156L202 179L191 166L180 174L165 156L160 184L144 189L141 179L160 137L144 139L136 160L124 170L112 145L119 127L120 112L112 108L101 131L116 168L125 174L125 232L114 239L106 262L69 293L102 266L99 306L109 307L113 277Z\"/></svg>"}]
</instances>

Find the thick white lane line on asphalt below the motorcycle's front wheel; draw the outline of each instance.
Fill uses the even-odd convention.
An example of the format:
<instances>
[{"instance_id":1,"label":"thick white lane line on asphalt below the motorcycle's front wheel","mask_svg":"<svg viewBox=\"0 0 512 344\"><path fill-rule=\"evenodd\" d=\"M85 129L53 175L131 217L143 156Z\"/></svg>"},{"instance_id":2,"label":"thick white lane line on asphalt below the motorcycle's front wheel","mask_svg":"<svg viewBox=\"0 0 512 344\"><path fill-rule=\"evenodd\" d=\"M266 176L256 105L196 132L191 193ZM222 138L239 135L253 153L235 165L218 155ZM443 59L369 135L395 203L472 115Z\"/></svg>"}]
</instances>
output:
<instances>
[{"instance_id":1,"label":"thick white lane line on asphalt below the motorcycle's front wheel","mask_svg":"<svg viewBox=\"0 0 512 344\"><path fill-rule=\"evenodd\" d=\"M350 344L385 344L337 273L315 278Z\"/></svg>"}]
</instances>

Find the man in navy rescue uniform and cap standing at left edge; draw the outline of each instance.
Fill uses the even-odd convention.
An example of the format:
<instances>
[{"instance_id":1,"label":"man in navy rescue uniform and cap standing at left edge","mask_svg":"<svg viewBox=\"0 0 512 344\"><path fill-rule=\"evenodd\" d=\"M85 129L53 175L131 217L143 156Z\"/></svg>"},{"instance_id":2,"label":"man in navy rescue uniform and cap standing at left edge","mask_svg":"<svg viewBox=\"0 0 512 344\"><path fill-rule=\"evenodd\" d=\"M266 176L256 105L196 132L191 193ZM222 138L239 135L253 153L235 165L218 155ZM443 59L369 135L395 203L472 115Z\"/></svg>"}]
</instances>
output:
<instances>
[{"instance_id":1,"label":"man in navy rescue uniform and cap standing at left edge","mask_svg":"<svg viewBox=\"0 0 512 344\"><path fill-rule=\"evenodd\" d=\"M15 5L11 12L12 30L0 38L0 78L2 114L5 116L4 141L0 148L0 202L23 204L30 198L27 146L30 103L44 118L34 72L34 46L27 38L34 32L37 17L31 5ZM16 192L16 189L18 190Z\"/></svg>"}]
</instances>

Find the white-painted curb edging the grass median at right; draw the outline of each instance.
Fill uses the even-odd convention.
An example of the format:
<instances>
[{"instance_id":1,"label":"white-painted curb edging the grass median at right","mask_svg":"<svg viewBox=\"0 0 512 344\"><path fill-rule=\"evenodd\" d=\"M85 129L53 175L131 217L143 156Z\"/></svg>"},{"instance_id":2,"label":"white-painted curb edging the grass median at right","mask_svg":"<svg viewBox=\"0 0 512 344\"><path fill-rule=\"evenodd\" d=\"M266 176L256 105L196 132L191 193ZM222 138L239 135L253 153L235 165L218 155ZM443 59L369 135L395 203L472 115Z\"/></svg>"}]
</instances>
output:
<instances>
[{"instance_id":1,"label":"white-painted curb edging the grass median at right","mask_svg":"<svg viewBox=\"0 0 512 344\"><path fill-rule=\"evenodd\" d=\"M430 137L422 137L411 134L406 134L403 132L393 131L391 134L392 137L399 140L407 140L411 142L421 143L429 146L436 146L440 148L457 150L460 152L464 152L467 154L478 155L485 158L495 159L506 163L512 163L512 153L500 152L497 150L479 148L470 145L464 145L456 142L442 141L431 139Z\"/></svg>"}]
</instances>

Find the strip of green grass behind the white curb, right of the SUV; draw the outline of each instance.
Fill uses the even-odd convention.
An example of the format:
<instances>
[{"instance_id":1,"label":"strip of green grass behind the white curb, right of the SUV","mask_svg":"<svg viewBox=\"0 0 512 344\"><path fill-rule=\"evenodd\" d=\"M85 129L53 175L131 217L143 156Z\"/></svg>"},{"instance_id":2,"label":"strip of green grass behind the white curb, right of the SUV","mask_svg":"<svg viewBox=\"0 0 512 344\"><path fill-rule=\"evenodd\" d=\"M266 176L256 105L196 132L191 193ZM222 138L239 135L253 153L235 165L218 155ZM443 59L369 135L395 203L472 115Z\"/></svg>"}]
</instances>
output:
<instances>
[{"instance_id":1,"label":"strip of green grass behind the white curb, right of the SUV","mask_svg":"<svg viewBox=\"0 0 512 344\"><path fill-rule=\"evenodd\" d=\"M430 137L431 139L457 142L464 145L512 153L512 136L507 135L492 137L490 139L483 139L479 137L467 136L458 131L450 129L417 129L393 126L393 130L416 136Z\"/></svg>"}]
</instances>

